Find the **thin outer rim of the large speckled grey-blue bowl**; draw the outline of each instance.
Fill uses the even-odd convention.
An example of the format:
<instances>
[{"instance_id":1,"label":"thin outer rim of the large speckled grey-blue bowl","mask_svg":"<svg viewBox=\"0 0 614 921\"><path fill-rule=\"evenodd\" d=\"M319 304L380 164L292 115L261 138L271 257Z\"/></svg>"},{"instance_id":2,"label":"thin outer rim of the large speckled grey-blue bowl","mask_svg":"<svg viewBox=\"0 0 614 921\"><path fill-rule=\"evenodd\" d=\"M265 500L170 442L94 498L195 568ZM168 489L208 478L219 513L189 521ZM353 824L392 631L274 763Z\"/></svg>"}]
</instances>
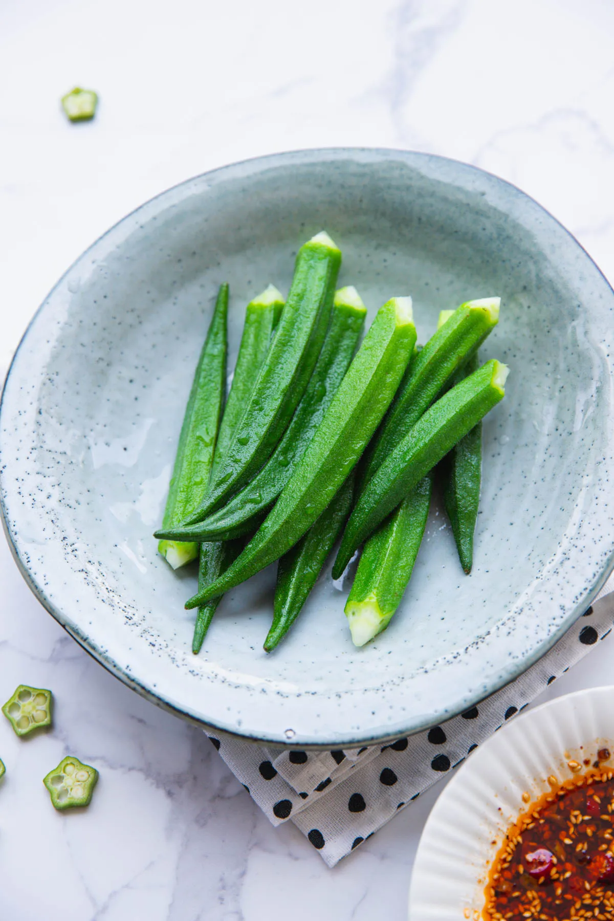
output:
<instances>
[{"instance_id":1,"label":"thin outer rim of the large speckled grey-blue bowl","mask_svg":"<svg viewBox=\"0 0 614 921\"><path fill-rule=\"evenodd\" d=\"M41 302L40 307L35 311L31 320L29 321L19 343L15 354L13 355L10 364L6 371L6 378L3 384L2 393L0 394L0 421L2 420L2 411L5 405L5 397L7 391L7 385L11 374L16 367L17 359L19 353L26 344L29 333L32 331L33 327L37 323L41 313L46 308L48 302L55 294L55 292L64 284L65 279L69 274L71 274L75 266L85 260L88 256L92 255L101 244L103 244L107 239L110 238L117 230L119 230L123 225L127 225L128 222L137 215L143 215L146 219L151 219L156 213L164 211L167 207L173 204L173 196L176 196L180 193L188 193L189 187L191 184L201 184L203 181L212 180L217 181L220 179L232 178L234 173L240 174L241 170L246 167L256 167L261 169L274 169L281 166L292 166L293 163L296 164L307 164L317 163L323 159L330 160L342 160L347 157L360 157L363 155L365 157L377 157L379 160L394 160L402 159L407 162L409 165L415 165L417 163L434 163L441 164L444 168L446 165L449 169L456 169L460 173L465 172L466 174L474 173L478 177L485 177L488 181L491 181L495 187L501 187L504 190L509 190L513 194L520 196L521 199L527 201L533 207L538 209L538 211L545 216L549 221L555 224L560 230L563 231L565 236L569 238L573 244L580 250L585 259L591 264L591 266L597 270L597 274L601 277L602 281L607 286L609 294L612 297L614 302L614 289L609 284L607 277L601 269L598 267L597 263L592 259L589 253L585 250L585 247L573 236L572 232L564 227L561 221L558 220L555 216L552 216L550 212L539 204L531 195L527 194L523 190L519 189L514 183L506 181L499 176L489 172L486 169L481 169L481 167L474 166L472 164L464 163L460 160L454 159L452 157L443 157L438 154L430 154L422 151L413 151L403 148L396 147L368 147L368 146L330 146L330 147L307 147L300 148L295 150L282 151L272 154L264 154L258 157L246 157L242 160L237 160L233 163L229 163L223 166L215 167L214 169L206 170L203 173L199 173L196 176L192 176L189 179L180 181L175 185L168 187L168 189L158 192L152 198L147 199L144 203L137 205L133 208L132 211L128 212L126 215L122 216L118 221L116 221L111 227L109 227L103 234L101 234L98 239L95 239L86 250L80 253L73 262L68 266L64 271L58 281L52 286L49 293L44 297ZM152 214L148 214L152 212ZM0 460L2 457L2 445L0 443ZM218 732L224 732L228 735L235 736L243 740L253 740L266 742L268 744L279 745L280 747L293 749L300 747L301 749L306 750L327 750L330 748L352 748L357 745L363 744L379 744L382 742L388 742L390 740L395 740L401 736L412 735L417 732L423 731L423 729L428 729L431 726L438 725L443 720L449 719L451 717L457 716L458 713L461 713L464 709L471 705L480 703L485 696L490 696L490 694L495 693L500 690L506 684L513 682L516 678L523 674L530 665L534 664L539 660L543 655L545 655L549 649L554 645L554 643L561 637L561 635L567 630L573 621L575 620L575 613L570 613L565 618L565 620L559 624L557 630L553 631L552 634L548 637L548 641L544 642L541 647L539 647L538 653L533 656L526 656L524 659L519 660L513 669L508 667L508 670L504 675L498 679L496 682L492 682L492 685L489 686L489 691L487 694L484 694L483 691L477 694L474 694L471 698L467 698L459 702L458 705L453 705L450 709L446 711L434 711L428 721L422 721L420 723L414 722L409 726L409 728L400 729L399 727L395 728L391 732L376 732L374 733L371 730L367 730L366 733L354 733L354 737L348 740L332 740L332 741L313 741L313 740L302 740L300 738L294 738L291 741L288 741L283 736L278 735L263 735L261 733L246 731L237 731L235 728L230 728L225 725L218 725L206 718L203 718L200 714L191 711L185 706L180 705L177 702L170 701L166 699L162 694L156 694L152 687L148 686L145 681L139 681L134 675L129 674L125 668L123 668L115 659L110 655L106 654L103 649L100 649L93 643L93 641L85 635L80 628L72 623L70 616L68 616L61 608L60 605L54 604L45 594L44 589L41 585L38 584L36 579L32 577L32 574L29 571L27 563L22 559L21 554L19 553L17 547L17 535L14 535L8 521L8 509L6 508L5 501L5 489L3 488L3 481L5 480L6 473L3 470L3 465L0 463L0 517L2 518L3 529L6 534L6 539L10 547L11 553L13 554L14 559L16 560L17 567L21 572L22 577L26 581L29 589L35 595L35 597L41 602L41 605L47 612L49 612L52 617L62 626L64 630L71 635L81 647L83 647L87 653L93 658L96 659L105 669L109 670L116 678L122 681L124 684L128 685L133 691L136 691L138 694L141 694L145 699L156 704L162 709L173 713L174 715L190 722L192 725L199 726L202 729L213 730ZM614 552L608 557L606 565L599 571L599 574L593 581L593 585L585 595L586 607L595 600L597 593L603 587L607 581L609 575L614 570Z\"/></svg>"}]
</instances>

